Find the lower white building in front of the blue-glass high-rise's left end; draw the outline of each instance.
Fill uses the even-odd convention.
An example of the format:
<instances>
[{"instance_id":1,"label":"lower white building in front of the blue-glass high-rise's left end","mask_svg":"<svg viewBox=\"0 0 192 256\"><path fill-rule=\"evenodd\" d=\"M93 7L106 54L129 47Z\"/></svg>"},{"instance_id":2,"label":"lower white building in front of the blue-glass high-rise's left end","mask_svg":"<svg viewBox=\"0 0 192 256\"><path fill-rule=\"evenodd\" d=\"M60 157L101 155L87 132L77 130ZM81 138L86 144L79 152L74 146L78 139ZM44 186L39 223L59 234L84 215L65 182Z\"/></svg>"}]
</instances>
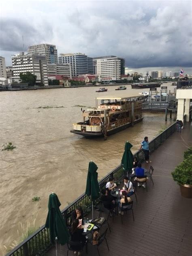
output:
<instances>
[{"instance_id":1,"label":"lower white building in front of the blue-glass high-rise's left end","mask_svg":"<svg viewBox=\"0 0 192 256\"><path fill-rule=\"evenodd\" d=\"M63 75L64 77L72 78L71 66L68 63L65 64L47 64L47 75Z\"/></svg>"}]
</instances>

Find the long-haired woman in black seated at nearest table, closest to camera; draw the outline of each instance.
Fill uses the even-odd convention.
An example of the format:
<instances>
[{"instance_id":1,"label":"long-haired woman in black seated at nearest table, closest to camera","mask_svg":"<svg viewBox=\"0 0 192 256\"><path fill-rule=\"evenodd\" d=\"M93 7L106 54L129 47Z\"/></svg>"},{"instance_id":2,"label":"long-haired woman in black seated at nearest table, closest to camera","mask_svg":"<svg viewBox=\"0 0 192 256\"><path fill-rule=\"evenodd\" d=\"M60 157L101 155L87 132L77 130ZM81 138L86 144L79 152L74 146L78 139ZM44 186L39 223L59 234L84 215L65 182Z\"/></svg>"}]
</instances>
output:
<instances>
[{"instance_id":1,"label":"long-haired woman in black seated at nearest table, closest to camera","mask_svg":"<svg viewBox=\"0 0 192 256\"><path fill-rule=\"evenodd\" d=\"M79 220L75 219L72 222L71 228L70 228L70 235L71 235L71 241L72 242L82 242L83 244L86 243L86 236L83 235L83 226L79 226ZM78 251L81 250L81 247L79 246L73 246L74 254L76 255ZM80 254L78 254L80 255Z\"/></svg>"}]
</instances>

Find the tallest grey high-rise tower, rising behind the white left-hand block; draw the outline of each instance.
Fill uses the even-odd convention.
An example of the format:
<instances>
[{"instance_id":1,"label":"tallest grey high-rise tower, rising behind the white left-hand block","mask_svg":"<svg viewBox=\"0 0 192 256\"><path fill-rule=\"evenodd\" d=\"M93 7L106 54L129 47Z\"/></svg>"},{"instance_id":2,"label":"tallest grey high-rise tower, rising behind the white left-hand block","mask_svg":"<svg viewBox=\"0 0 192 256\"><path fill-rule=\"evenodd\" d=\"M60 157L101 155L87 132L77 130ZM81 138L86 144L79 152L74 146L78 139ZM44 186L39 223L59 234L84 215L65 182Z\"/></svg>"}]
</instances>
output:
<instances>
[{"instance_id":1,"label":"tallest grey high-rise tower, rising behind the white left-hand block","mask_svg":"<svg viewBox=\"0 0 192 256\"><path fill-rule=\"evenodd\" d=\"M58 50L55 45L39 44L30 45L28 47L28 54L38 54L46 57L47 64L58 63Z\"/></svg>"}]
</instances>

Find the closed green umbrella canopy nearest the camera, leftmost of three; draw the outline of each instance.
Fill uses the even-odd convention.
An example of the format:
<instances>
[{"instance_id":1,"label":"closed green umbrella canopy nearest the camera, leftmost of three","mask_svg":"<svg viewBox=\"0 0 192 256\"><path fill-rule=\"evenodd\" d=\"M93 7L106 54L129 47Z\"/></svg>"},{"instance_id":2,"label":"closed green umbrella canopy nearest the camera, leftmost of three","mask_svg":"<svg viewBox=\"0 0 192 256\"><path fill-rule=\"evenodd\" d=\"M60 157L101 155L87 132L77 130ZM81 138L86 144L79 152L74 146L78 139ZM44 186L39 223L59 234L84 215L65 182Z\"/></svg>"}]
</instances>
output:
<instances>
[{"instance_id":1,"label":"closed green umbrella canopy nearest the camera, leftmost of three","mask_svg":"<svg viewBox=\"0 0 192 256\"><path fill-rule=\"evenodd\" d=\"M49 211L45 227L49 228L51 243L54 243L55 237L57 237L58 243L64 245L69 240L70 235L59 209L60 205L58 196L54 193L50 194L48 203Z\"/></svg>"}]
</instances>

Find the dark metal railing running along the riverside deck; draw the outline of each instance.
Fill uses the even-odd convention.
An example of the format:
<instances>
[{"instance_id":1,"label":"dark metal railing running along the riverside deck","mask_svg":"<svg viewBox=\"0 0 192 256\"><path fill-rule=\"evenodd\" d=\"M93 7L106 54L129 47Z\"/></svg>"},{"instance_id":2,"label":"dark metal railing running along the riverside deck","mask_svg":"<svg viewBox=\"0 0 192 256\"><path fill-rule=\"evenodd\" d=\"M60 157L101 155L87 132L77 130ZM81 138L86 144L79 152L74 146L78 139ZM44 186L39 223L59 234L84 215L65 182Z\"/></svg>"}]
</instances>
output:
<instances>
[{"instance_id":1,"label":"dark metal railing running along the riverside deck","mask_svg":"<svg viewBox=\"0 0 192 256\"><path fill-rule=\"evenodd\" d=\"M150 152L155 151L173 132L176 130L176 122L166 128L157 137L155 137L149 143ZM137 151L134 156L140 161L144 160L144 154L142 149ZM113 169L109 174L103 177L99 181L100 189L105 188L109 177L113 177L117 183L120 183L124 177L124 169L120 164L115 169ZM91 212L92 205L89 196L82 194L75 201L70 203L67 207L62 210L62 215L66 220L66 224L71 223L71 212L75 210L77 205L81 205L83 211L86 214ZM17 245L13 250L11 250L6 256L38 256L43 255L51 247L51 241L49 239L49 230L45 228L45 225L39 228L33 235L25 239L22 243Z\"/></svg>"}]
</instances>

